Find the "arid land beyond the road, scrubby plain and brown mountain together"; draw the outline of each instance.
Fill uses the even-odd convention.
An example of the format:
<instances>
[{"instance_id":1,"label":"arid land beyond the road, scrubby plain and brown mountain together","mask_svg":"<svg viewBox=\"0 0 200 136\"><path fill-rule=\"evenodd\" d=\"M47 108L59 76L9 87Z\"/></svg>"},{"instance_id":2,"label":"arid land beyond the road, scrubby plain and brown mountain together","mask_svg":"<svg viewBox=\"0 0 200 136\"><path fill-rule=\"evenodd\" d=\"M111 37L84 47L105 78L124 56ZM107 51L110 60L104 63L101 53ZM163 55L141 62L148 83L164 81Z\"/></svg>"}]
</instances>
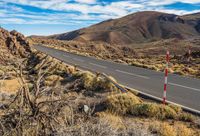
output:
<instances>
[{"instance_id":1,"label":"arid land beyond the road, scrubby plain and brown mountain together","mask_svg":"<svg viewBox=\"0 0 200 136\"><path fill-rule=\"evenodd\" d=\"M164 70L168 50L171 73L199 78L199 20L199 13L137 12L73 32L29 39L33 44L156 71Z\"/></svg>"}]
</instances>

